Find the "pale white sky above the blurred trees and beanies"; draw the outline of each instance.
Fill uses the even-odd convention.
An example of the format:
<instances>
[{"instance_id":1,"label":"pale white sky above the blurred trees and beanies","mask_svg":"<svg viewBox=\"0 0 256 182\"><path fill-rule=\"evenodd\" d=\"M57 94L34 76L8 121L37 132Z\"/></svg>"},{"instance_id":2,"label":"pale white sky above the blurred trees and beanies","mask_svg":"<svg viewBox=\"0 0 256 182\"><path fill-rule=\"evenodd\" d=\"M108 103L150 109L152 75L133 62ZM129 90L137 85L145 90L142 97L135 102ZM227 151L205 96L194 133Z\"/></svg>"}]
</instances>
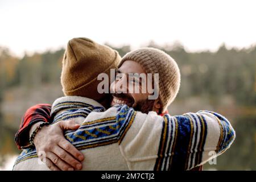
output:
<instances>
[{"instance_id":1,"label":"pale white sky above the blurred trees and beanies","mask_svg":"<svg viewBox=\"0 0 256 182\"><path fill-rule=\"evenodd\" d=\"M256 1L0 0L0 46L16 55L65 47L87 37L133 49L154 40L188 51L256 43Z\"/></svg>"}]
</instances>

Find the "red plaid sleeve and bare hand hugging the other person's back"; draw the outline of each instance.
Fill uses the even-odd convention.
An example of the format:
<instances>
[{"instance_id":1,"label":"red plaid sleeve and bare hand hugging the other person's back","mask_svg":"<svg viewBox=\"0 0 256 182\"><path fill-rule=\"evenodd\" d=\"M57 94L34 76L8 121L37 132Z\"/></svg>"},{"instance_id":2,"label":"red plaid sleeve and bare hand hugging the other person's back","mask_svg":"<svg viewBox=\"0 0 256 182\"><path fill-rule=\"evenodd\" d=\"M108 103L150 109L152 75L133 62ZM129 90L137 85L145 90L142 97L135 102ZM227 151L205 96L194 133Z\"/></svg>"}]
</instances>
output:
<instances>
[{"instance_id":1,"label":"red plaid sleeve and bare hand hugging the other person's back","mask_svg":"<svg viewBox=\"0 0 256 182\"><path fill-rule=\"evenodd\" d=\"M15 142L19 148L32 147L29 140L32 131L42 122L52 123L51 105L38 104L30 107L23 116L20 128L15 135ZM81 169L82 153L64 138L64 130L76 130L80 125L75 121L60 121L49 126L43 126L36 133L34 144L38 157L52 170ZM42 151L42 152L39 152Z\"/></svg>"}]
</instances>

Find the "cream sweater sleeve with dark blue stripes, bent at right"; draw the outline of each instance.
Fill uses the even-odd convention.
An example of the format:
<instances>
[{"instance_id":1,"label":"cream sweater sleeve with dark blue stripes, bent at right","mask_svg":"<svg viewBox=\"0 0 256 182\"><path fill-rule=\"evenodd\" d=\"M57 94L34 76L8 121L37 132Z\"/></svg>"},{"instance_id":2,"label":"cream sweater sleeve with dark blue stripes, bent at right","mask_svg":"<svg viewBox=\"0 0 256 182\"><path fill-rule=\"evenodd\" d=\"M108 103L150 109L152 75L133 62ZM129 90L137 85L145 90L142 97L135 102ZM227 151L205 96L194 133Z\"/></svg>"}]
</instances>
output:
<instances>
[{"instance_id":1,"label":"cream sweater sleeve with dark blue stripes, bent at right","mask_svg":"<svg viewBox=\"0 0 256 182\"><path fill-rule=\"evenodd\" d=\"M189 170L222 154L235 137L228 119L211 111L174 117L138 112L120 150L130 169Z\"/></svg>"}]
</instances>

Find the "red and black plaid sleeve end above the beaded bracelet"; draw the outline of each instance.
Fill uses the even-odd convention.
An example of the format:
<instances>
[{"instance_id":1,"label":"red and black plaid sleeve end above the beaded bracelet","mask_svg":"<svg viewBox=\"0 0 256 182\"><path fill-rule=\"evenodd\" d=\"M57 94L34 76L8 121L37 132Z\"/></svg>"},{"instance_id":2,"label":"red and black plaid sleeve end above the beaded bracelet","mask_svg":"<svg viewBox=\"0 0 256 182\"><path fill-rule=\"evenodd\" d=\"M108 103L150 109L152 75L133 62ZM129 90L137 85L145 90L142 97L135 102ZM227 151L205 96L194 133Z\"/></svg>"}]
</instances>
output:
<instances>
[{"instance_id":1,"label":"red and black plaid sleeve end above the beaded bracelet","mask_svg":"<svg viewBox=\"0 0 256 182\"><path fill-rule=\"evenodd\" d=\"M15 134L15 142L19 149L30 147L29 132L35 123L52 122L51 105L38 104L30 107L22 117L18 132Z\"/></svg>"}]
</instances>

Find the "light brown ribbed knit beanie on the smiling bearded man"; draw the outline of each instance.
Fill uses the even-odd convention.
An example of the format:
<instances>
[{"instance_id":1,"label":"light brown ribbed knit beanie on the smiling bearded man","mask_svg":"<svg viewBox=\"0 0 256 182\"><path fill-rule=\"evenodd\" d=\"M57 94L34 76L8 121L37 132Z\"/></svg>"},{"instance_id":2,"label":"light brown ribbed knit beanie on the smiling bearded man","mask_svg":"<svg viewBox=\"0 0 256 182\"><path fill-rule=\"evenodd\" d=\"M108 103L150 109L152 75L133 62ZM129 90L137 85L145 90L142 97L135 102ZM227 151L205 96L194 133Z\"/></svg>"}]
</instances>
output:
<instances>
[{"instance_id":1,"label":"light brown ribbed knit beanie on the smiling bearded man","mask_svg":"<svg viewBox=\"0 0 256 182\"><path fill-rule=\"evenodd\" d=\"M141 64L146 73L159 73L159 101L161 112L174 101L180 88L180 70L177 63L167 53L156 48L141 48L123 56L123 62L130 60Z\"/></svg>"}]
</instances>

